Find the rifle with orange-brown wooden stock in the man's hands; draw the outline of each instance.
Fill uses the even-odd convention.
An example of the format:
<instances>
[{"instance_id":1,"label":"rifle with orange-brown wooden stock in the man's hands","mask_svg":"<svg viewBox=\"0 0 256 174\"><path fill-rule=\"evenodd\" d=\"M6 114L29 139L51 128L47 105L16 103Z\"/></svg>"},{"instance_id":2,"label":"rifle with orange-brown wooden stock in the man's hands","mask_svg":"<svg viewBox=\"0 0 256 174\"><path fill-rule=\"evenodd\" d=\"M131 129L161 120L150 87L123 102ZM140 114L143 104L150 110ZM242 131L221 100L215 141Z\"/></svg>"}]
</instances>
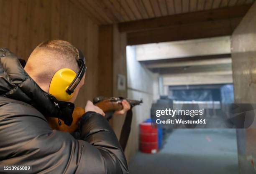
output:
<instances>
[{"instance_id":1,"label":"rifle with orange-brown wooden stock in the man's hands","mask_svg":"<svg viewBox=\"0 0 256 174\"><path fill-rule=\"evenodd\" d=\"M125 98L121 98L121 97L110 97L110 98L106 98L106 97L95 97L93 99L93 104L95 106L98 106L99 108L102 109L103 112L106 113L106 119L111 119L111 116L113 114L114 111L120 111L123 109L123 105L122 105L122 101L125 100ZM128 103L130 103L131 108L133 106L139 105L140 103L142 103L143 101L140 100L129 100L126 99L128 101ZM46 120L48 121L48 124L50 125L50 127L52 129L56 129L59 131L64 131L64 132L73 132L77 129L78 126L78 122L81 119L81 116L84 114L84 109L81 107L75 107L72 117L73 117L73 122L70 126L67 126L66 124L64 124L64 121L59 120L58 118L54 118L54 117L46 117ZM60 122L60 123L59 123Z\"/></svg>"}]
</instances>

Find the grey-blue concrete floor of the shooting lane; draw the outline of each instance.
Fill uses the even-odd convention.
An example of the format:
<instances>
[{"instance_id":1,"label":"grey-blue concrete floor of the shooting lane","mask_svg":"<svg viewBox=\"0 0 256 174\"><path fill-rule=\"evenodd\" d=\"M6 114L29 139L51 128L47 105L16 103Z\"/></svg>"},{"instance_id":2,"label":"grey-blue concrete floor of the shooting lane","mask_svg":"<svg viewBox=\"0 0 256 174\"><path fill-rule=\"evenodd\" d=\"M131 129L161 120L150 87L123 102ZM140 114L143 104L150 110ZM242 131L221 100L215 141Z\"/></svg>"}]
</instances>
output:
<instances>
[{"instance_id":1,"label":"grey-blue concrete floor of the shooting lane","mask_svg":"<svg viewBox=\"0 0 256 174\"><path fill-rule=\"evenodd\" d=\"M157 154L138 152L131 174L238 174L235 129L176 129Z\"/></svg>"}]
</instances>

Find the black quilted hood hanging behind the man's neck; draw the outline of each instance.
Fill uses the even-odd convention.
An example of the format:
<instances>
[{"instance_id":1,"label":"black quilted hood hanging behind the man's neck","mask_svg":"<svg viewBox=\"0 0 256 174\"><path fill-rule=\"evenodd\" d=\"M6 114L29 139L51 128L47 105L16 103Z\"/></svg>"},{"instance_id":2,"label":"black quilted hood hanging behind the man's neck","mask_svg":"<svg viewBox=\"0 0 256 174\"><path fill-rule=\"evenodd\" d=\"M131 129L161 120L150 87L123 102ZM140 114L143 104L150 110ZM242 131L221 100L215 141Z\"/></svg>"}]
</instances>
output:
<instances>
[{"instance_id":1,"label":"black quilted hood hanging behind the man's neck","mask_svg":"<svg viewBox=\"0 0 256 174\"><path fill-rule=\"evenodd\" d=\"M0 48L0 96L28 103L43 114L63 120L67 125L73 121L74 103L58 101L43 91L28 76L18 57L6 48Z\"/></svg>"}]
</instances>

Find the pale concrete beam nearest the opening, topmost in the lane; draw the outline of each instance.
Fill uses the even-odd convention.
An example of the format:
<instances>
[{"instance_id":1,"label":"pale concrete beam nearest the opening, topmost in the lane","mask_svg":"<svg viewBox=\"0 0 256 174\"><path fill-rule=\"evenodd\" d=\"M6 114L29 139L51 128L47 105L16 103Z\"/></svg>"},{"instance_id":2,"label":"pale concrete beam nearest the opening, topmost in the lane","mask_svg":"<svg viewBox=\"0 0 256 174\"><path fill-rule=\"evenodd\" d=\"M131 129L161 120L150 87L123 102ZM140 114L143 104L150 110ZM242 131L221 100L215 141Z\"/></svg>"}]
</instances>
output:
<instances>
[{"instance_id":1,"label":"pale concrete beam nearest the opening, topmost in the lane","mask_svg":"<svg viewBox=\"0 0 256 174\"><path fill-rule=\"evenodd\" d=\"M230 54L230 36L136 45L136 59L149 61ZM214 49L212 49L214 48Z\"/></svg>"}]
</instances>

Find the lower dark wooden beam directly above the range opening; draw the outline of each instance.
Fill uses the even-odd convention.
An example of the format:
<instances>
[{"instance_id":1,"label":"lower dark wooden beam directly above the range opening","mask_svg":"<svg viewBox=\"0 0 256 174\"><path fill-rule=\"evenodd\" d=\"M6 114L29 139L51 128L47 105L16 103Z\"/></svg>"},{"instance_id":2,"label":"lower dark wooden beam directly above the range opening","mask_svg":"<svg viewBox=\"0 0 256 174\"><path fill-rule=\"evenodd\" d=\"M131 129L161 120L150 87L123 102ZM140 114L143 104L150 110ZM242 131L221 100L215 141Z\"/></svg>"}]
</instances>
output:
<instances>
[{"instance_id":1,"label":"lower dark wooden beam directly above the range opening","mask_svg":"<svg viewBox=\"0 0 256 174\"><path fill-rule=\"evenodd\" d=\"M127 45L231 35L241 20L242 17L228 18L127 33Z\"/></svg>"}]
</instances>

